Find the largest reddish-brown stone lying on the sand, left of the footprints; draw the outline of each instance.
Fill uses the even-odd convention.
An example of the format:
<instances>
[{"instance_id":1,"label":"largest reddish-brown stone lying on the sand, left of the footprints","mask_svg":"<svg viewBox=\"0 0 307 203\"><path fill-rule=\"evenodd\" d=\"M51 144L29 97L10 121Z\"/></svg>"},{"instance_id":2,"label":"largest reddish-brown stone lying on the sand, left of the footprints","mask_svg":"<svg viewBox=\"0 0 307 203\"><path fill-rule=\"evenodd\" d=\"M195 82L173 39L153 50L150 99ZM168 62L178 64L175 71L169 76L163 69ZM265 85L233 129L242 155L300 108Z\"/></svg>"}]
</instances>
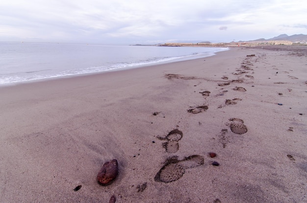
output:
<instances>
[{"instance_id":1,"label":"largest reddish-brown stone lying on the sand, left of the footprints","mask_svg":"<svg viewBox=\"0 0 307 203\"><path fill-rule=\"evenodd\" d=\"M109 162L105 162L102 165L102 169L97 175L97 181L101 185L108 185L116 179L118 175L118 162L113 159Z\"/></svg>"}]
</instances>

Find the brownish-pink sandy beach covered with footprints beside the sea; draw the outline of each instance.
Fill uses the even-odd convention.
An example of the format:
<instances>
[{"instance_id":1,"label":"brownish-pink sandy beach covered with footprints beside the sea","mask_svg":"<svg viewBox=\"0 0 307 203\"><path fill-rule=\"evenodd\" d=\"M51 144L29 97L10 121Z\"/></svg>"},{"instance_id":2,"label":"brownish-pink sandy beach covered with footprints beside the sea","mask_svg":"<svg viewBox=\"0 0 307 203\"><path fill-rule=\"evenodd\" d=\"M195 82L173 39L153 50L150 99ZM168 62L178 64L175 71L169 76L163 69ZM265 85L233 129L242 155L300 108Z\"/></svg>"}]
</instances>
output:
<instances>
[{"instance_id":1,"label":"brownish-pink sandy beach covered with footprints beside the sea","mask_svg":"<svg viewBox=\"0 0 307 203\"><path fill-rule=\"evenodd\" d=\"M307 54L291 47L1 87L0 202L307 202Z\"/></svg>"}]
</instances>

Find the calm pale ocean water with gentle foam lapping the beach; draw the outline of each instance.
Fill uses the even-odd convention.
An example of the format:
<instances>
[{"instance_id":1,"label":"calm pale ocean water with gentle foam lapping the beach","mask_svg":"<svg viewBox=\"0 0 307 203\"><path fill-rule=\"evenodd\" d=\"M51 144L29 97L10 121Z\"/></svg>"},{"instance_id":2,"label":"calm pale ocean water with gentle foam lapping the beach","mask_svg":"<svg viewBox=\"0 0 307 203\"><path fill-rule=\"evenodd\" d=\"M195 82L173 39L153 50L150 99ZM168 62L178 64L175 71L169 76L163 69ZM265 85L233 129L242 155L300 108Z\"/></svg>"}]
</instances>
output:
<instances>
[{"instance_id":1,"label":"calm pale ocean water with gentle foam lapping the beach","mask_svg":"<svg viewBox=\"0 0 307 203\"><path fill-rule=\"evenodd\" d=\"M0 85L212 56L221 47L0 43Z\"/></svg>"}]
</instances>

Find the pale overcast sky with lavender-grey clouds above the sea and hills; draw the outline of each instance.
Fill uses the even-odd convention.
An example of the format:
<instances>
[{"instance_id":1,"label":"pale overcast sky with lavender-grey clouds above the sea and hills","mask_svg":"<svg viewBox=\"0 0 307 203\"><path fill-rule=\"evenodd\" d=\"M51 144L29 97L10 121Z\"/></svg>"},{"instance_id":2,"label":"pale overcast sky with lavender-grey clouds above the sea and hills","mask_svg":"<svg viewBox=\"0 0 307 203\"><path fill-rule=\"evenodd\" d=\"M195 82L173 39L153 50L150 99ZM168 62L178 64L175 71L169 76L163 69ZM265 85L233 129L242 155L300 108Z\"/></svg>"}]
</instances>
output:
<instances>
[{"instance_id":1,"label":"pale overcast sky with lavender-grey clouds above the sea and hills","mask_svg":"<svg viewBox=\"0 0 307 203\"><path fill-rule=\"evenodd\" d=\"M0 41L157 44L307 34L306 0L1 0Z\"/></svg>"}]
</instances>

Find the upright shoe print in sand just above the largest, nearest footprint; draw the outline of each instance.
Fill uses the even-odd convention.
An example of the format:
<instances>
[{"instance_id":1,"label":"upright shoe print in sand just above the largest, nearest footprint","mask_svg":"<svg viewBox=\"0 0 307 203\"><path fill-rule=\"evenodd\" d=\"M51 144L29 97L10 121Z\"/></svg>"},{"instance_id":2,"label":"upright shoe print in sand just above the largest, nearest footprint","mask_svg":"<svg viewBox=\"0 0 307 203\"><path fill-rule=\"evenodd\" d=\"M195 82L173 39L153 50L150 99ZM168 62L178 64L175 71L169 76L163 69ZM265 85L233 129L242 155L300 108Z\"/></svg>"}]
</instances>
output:
<instances>
[{"instance_id":1,"label":"upright shoe print in sand just above the largest, nearest footprint","mask_svg":"<svg viewBox=\"0 0 307 203\"><path fill-rule=\"evenodd\" d=\"M160 140L167 140L167 142L162 143L168 153L176 153L179 150L178 141L182 138L183 134L178 129L172 130L165 137L157 136Z\"/></svg>"}]
</instances>

